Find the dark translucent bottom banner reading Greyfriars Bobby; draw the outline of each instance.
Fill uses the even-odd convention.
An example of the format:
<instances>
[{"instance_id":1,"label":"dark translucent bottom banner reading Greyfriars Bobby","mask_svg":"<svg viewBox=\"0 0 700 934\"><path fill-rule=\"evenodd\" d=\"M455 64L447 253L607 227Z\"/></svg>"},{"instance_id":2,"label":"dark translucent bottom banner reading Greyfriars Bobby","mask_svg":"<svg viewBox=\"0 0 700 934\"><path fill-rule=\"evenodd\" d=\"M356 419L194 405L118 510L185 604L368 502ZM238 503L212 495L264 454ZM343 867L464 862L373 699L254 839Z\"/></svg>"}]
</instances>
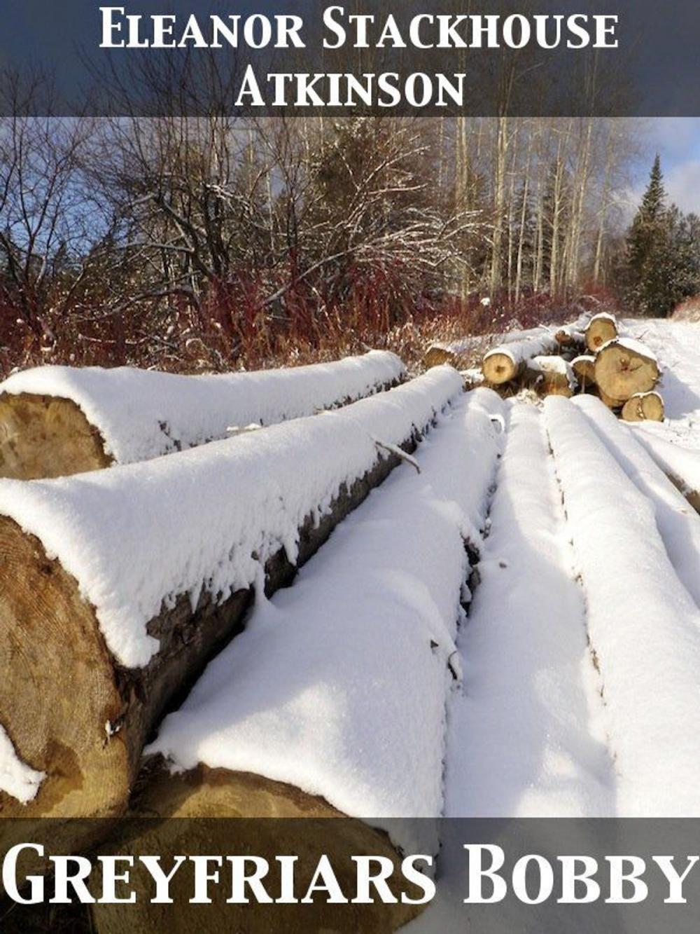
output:
<instances>
[{"instance_id":1,"label":"dark translucent bottom banner reading Greyfriars Bobby","mask_svg":"<svg viewBox=\"0 0 700 934\"><path fill-rule=\"evenodd\" d=\"M374 823L6 821L0 928L680 934L700 924L698 820Z\"/></svg>"}]
</instances>

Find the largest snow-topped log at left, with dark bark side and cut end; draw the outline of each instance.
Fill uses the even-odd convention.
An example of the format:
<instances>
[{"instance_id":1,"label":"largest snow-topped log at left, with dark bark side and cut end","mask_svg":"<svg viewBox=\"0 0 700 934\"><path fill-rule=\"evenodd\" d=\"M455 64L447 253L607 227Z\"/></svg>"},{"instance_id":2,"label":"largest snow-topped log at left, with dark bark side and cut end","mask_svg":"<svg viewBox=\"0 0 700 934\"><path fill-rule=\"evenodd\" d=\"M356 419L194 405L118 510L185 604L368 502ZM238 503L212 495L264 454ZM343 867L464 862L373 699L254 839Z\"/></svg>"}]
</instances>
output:
<instances>
[{"instance_id":1,"label":"largest snow-topped log at left, with dark bark side and cut end","mask_svg":"<svg viewBox=\"0 0 700 934\"><path fill-rule=\"evenodd\" d=\"M462 394L449 367L172 457L0 481L0 724L46 773L3 814L123 808L176 692ZM413 471L412 471L413 473ZM0 761L0 772L3 763Z\"/></svg>"}]
</instances>

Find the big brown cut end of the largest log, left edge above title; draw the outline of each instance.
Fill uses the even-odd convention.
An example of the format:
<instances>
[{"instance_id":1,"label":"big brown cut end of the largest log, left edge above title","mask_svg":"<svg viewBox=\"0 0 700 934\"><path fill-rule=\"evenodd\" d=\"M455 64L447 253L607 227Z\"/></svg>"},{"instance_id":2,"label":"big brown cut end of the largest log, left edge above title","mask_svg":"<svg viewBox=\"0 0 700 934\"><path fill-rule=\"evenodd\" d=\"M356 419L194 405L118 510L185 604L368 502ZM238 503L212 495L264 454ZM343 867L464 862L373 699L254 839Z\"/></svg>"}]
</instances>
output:
<instances>
[{"instance_id":1,"label":"big brown cut end of the largest log, left edge above title","mask_svg":"<svg viewBox=\"0 0 700 934\"><path fill-rule=\"evenodd\" d=\"M128 796L121 703L94 611L39 542L0 517L0 723L17 756L46 777L2 817L109 815ZM77 702L79 697L79 702Z\"/></svg>"}]
</instances>

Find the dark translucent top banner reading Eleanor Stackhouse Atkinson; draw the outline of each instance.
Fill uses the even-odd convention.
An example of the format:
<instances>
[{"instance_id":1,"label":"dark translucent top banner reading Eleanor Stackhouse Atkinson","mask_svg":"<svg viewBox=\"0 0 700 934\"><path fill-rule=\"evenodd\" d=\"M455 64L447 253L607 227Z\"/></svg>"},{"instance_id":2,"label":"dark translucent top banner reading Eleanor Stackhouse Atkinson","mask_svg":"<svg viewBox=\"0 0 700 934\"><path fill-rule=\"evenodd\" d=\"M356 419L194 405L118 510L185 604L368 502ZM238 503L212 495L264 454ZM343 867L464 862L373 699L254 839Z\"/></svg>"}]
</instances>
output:
<instances>
[{"instance_id":1,"label":"dark translucent top banner reading Eleanor Stackhouse Atkinson","mask_svg":"<svg viewBox=\"0 0 700 934\"><path fill-rule=\"evenodd\" d=\"M698 116L689 0L7 0L0 115Z\"/></svg>"}]
</instances>

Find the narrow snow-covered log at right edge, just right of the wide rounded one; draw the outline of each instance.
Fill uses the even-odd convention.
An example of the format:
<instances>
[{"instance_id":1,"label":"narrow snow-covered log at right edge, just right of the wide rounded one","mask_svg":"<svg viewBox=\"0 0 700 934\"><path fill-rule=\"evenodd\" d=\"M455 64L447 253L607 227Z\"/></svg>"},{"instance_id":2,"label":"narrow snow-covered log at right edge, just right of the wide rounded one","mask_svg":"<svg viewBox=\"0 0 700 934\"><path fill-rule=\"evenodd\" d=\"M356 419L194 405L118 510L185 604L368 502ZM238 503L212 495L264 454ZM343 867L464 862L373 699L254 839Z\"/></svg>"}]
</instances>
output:
<instances>
[{"instance_id":1,"label":"narrow snow-covered log at right edge, just right of the wide rounded one","mask_svg":"<svg viewBox=\"0 0 700 934\"><path fill-rule=\"evenodd\" d=\"M681 583L700 606L700 517L679 489L651 458L631 432L594 396L580 396L574 403L594 426L623 471L653 503L656 525Z\"/></svg>"}]
</instances>

